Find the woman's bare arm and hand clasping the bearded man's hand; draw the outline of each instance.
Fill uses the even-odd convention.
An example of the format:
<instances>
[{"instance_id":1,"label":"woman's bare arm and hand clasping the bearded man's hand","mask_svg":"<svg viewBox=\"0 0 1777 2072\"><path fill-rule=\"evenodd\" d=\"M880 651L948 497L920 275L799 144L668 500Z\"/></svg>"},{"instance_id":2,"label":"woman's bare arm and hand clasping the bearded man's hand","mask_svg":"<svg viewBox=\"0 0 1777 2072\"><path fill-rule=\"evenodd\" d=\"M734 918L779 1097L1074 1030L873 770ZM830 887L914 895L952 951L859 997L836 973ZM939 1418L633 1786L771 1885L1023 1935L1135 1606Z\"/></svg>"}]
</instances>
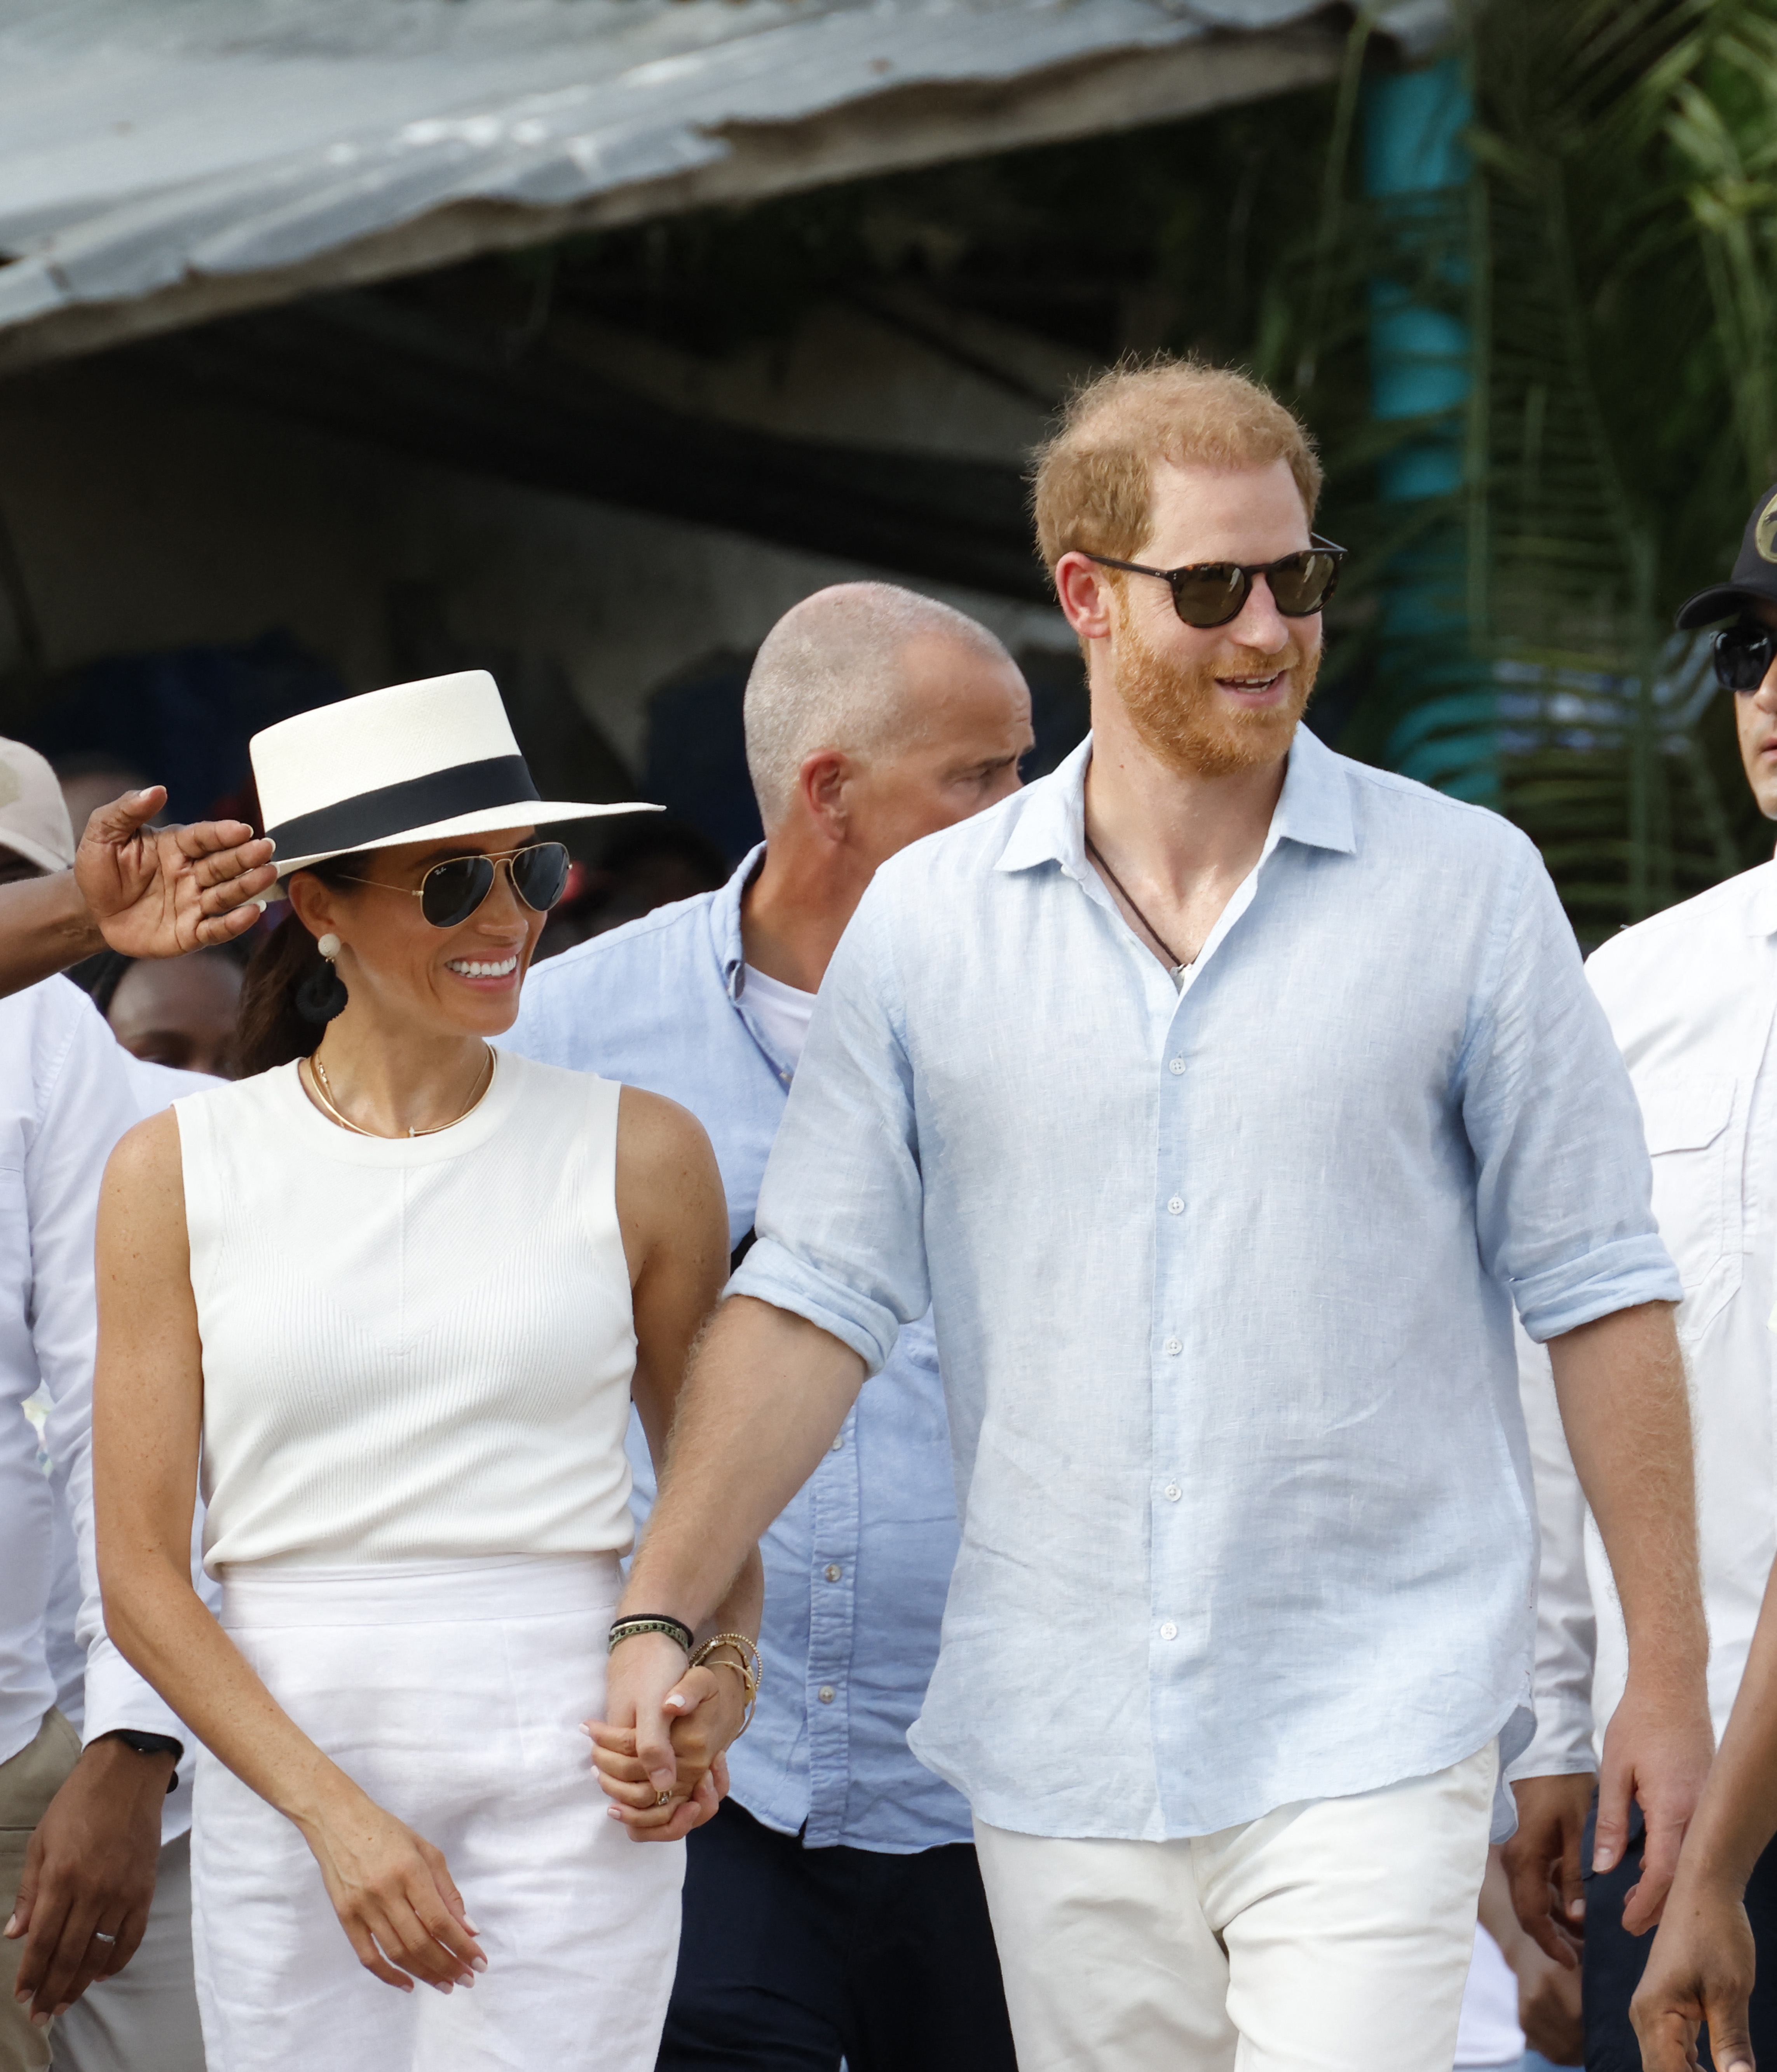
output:
<instances>
[{"instance_id":1,"label":"woman's bare arm and hand clasping the bearded man's hand","mask_svg":"<svg viewBox=\"0 0 1777 2072\"><path fill-rule=\"evenodd\" d=\"M618 1125L618 1218L634 1301L634 1403L661 1475L690 1349L728 1278L728 1204L703 1125L676 1102L632 1086L622 1092ZM755 1546L699 1639L757 1637L763 1602L765 1571ZM637 1840L674 1842L715 1813L728 1788L722 1751L740 1730L742 1699L734 1670L717 1668L690 1670L668 1695L678 1796L666 1807L634 1759L634 1722L593 1722L599 1782Z\"/></svg>"}]
</instances>

